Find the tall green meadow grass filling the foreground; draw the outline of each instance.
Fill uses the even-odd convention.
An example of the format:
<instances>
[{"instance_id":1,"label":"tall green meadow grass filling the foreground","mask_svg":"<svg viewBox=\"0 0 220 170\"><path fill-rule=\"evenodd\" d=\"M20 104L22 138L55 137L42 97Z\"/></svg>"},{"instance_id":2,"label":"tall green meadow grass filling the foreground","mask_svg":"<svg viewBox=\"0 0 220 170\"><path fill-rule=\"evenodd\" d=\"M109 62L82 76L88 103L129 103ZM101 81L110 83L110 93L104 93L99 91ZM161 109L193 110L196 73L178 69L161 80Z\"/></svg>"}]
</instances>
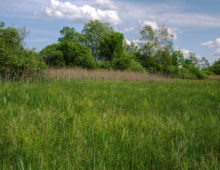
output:
<instances>
[{"instance_id":1,"label":"tall green meadow grass filling the foreground","mask_svg":"<svg viewBox=\"0 0 220 170\"><path fill-rule=\"evenodd\" d=\"M220 82L0 85L0 169L219 169Z\"/></svg>"}]
</instances>

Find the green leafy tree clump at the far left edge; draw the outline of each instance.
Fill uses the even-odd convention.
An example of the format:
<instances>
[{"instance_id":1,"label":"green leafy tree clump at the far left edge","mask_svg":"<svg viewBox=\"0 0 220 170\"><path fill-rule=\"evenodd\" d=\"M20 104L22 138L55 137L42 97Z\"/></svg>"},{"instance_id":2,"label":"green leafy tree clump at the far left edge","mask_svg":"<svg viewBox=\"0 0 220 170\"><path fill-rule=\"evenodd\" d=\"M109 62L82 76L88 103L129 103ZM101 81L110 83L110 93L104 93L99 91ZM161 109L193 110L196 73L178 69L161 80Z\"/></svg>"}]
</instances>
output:
<instances>
[{"instance_id":1,"label":"green leafy tree clump at the far left edge","mask_svg":"<svg viewBox=\"0 0 220 170\"><path fill-rule=\"evenodd\" d=\"M23 40L25 29L0 26L0 75L2 79L19 78L38 72L46 65L38 53L26 50Z\"/></svg>"}]
</instances>

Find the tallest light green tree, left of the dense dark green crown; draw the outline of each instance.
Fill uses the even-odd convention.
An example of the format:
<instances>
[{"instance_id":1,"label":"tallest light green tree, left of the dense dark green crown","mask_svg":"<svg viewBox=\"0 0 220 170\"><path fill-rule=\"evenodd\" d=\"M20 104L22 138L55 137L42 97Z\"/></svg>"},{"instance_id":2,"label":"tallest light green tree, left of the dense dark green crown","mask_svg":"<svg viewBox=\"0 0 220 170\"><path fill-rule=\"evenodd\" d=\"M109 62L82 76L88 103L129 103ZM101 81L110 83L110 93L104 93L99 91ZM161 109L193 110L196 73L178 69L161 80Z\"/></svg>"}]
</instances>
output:
<instances>
[{"instance_id":1,"label":"tallest light green tree, left of the dense dark green crown","mask_svg":"<svg viewBox=\"0 0 220 170\"><path fill-rule=\"evenodd\" d=\"M102 60L102 57L99 55L99 46L103 36L111 32L113 32L113 28L109 23L102 23L98 20L94 20L85 24L82 34L87 38L88 41L86 45L92 50L92 55L95 57L96 61Z\"/></svg>"}]
</instances>

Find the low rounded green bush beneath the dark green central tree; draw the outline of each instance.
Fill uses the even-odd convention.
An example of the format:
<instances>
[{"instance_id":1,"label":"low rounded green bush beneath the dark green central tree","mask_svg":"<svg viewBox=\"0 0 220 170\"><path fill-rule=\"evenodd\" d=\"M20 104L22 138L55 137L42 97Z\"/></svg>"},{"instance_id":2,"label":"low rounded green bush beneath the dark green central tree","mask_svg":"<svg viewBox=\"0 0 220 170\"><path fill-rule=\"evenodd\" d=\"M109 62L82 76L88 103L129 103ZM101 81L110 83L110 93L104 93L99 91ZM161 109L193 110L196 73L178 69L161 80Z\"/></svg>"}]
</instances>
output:
<instances>
[{"instance_id":1,"label":"low rounded green bush beneath the dark green central tree","mask_svg":"<svg viewBox=\"0 0 220 170\"><path fill-rule=\"evenodd\" d=\"M113 68L116 70L128 70L128 71L135 71L135 72L145 72L143 66L141 66L138 62L134 59L123 56L121 58L115 59L113 61Z\"/></svg>"}]
</instances>

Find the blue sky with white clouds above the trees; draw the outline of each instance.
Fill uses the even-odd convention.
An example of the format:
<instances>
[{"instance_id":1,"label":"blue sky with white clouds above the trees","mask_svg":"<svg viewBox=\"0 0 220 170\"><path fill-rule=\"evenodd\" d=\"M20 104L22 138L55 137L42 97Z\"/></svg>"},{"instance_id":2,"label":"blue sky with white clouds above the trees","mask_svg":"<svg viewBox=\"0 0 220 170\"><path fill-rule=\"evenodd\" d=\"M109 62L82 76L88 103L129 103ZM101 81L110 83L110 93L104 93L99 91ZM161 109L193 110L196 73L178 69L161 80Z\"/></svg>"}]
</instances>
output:
<instances>
[{"instance_id":1,"label":"blue sky with white clouds above the trees","mask_svg":"<svg viewBox=\"0 0 220 170\"><path fill-rule=\"evenodd\" d=\"M174 48L211 63L220 58L220 0L0 0L0 21L26 27L27 48L56 43L64 26L81 31L90 20L110 22L130 42L144 25L166 25Z\"/></svg>"}]
</instances>

